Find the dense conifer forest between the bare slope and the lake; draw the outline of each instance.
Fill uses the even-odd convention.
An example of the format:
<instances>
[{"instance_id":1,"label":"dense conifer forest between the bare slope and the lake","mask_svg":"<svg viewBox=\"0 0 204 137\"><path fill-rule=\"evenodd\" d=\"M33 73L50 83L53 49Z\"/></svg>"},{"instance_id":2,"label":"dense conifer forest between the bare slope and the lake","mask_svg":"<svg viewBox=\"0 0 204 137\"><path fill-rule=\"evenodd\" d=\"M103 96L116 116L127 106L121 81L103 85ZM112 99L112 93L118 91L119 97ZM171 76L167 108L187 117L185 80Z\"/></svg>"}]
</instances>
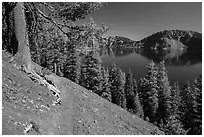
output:
<instances>
[{"instance_id":1,"label":"dense conifer forest between the bare slope and the lake","mask_svg":"<svg viewBox=\"0 0 204 137\"><path fill-rule=\"evenodd\" d=\"M40 5L46 4L40 3ZM11 44L15 44L12 43L14 30L9 30L12 26L8 24L12 25L15 22L10 22L8 18L10 13L7 13L7 8L11 8L9 6L15 7L15 4L3 3L5 19L2 22L2 47L14 54L11 47ZM29 9L30 3L27 3L27 6L25 8ZM33 7L35 6L37 5L34 4ZM60 16L60 18L66 18L65 21L75 22L99 8L100 4L51 3L46 6L51 9L62 6L65 9L60 10L60 13L57 12L58 10L53 10L50 18L46 18L39 11L26 12L27 29L24 31L28 31L32 61L151 122L165 134L202 134L201 76L180 88L178 83L170 84L164 62L159 65L151 62L147 66L146 76L138 81L133 79L131 70L123 72L115 64L104 68L99 51L108 43L102 38L108 27L103 25L98 27L91 20L86 25L66 26L68 31L65 33L61 27L53 24L54 20L51 19L53 16ZM37 18L35 33L32 32L33 16Z\"/></svg>"}]
</instances>

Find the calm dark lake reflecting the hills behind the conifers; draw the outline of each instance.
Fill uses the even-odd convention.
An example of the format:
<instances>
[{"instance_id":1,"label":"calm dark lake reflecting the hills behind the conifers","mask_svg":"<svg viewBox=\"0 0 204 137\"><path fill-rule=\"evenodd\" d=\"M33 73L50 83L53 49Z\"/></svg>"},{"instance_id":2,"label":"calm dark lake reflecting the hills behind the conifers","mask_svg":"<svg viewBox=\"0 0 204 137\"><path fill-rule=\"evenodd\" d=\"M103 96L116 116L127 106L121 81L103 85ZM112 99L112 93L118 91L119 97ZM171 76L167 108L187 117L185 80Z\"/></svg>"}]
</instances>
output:
<instances>
[{"instance_id":1,"label":"calm dark lake reflecting the hills behind the conifers","mask_svg":"<svg viewBox=\"0 0 204 137\"><path fill-rule=\"evenodd\" d=\"M109 67L115 63L123 71L130 68L136 80L147 74L146 66L151 60L158 64L165 60L171 84L179 82L183 86L202 74L202 51L171 50L168 52L146 52L133 48L105 47L101 50L102 65Z\"/></svg>"}]
</instances>

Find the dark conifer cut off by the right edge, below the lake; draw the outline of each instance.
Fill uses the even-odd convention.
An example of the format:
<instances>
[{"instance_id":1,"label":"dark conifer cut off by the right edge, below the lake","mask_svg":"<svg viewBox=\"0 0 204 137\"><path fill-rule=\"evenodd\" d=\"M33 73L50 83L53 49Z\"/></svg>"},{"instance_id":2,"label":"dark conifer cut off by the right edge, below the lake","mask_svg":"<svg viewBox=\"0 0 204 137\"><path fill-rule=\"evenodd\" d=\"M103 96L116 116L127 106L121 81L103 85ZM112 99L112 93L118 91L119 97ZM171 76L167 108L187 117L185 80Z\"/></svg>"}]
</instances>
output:
<instances>
[{"instance_id":1,"label":"dark conifer cut off by the right edge, below the lake","mask_svg":"<svg viewBox=\"0 0 204 137\"><path fill-rule=\"evenodd\" d=\"M188 81L182 91L182 123L188 134L202 134L202 89L195 80ZM197 86L198 87L197 87Z\"/></svg>"}]
</instances>

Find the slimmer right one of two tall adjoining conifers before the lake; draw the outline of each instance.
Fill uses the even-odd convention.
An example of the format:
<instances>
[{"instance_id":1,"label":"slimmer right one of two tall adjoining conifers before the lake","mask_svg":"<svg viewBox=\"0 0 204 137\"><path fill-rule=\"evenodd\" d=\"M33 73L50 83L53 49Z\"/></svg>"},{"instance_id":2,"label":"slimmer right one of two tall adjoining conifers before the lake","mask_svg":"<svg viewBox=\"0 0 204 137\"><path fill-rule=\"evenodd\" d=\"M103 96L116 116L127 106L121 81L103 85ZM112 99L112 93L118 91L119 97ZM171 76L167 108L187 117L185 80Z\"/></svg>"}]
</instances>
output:
<instances>
[{"instance_id":1,"label":"slimmer right one of two tall adjoining conifers before the lake","mask_svg":"<svg viewBox=\"0 0 204 137\"><path fill-rule=\"evenodd\" d=\"M170 116L171 109L171 87L167 76L167 71L165 68L164 61L160 62L158 69L158 97L159 97L159 107L157 111L158 122L160 119L166 124L166 120Z\"/></svg>"}]
</instances>

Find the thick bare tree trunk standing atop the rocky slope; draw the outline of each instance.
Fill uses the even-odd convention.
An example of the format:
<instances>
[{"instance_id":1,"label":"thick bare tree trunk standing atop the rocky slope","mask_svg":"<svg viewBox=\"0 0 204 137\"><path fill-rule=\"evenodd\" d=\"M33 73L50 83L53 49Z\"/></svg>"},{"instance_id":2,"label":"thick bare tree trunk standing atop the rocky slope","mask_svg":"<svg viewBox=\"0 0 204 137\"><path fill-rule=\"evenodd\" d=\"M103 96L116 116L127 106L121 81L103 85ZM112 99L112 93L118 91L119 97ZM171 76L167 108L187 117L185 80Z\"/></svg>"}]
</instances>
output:
<instances>
[{"instance_id":1,"label":"thick bare tree trunk standing atop the rocky slope","mask_svg":"<svg viewBox=\"0 0 204 137\"><path fill-rule=\"evenodd\" d=\"M18 50L15 55L18 63L25 67L26 72L32 72L31 55L29 48L28 32L23 2L18 2L14 8L15 35L18 42Z\"/></svg>"}]
</instances>

